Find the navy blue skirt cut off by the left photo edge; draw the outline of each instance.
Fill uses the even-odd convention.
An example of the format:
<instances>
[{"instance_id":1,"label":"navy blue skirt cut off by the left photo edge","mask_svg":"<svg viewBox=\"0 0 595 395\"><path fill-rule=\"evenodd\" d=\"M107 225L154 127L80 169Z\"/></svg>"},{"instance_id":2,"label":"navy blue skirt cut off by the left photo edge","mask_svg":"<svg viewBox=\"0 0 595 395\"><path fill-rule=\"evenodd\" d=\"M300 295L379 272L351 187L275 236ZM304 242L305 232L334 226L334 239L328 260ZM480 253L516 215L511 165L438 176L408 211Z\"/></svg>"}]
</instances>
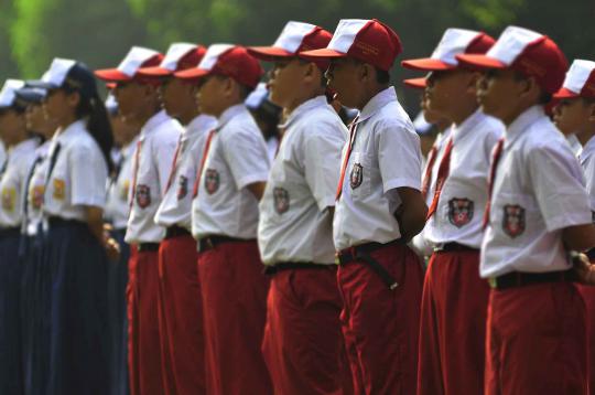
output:
<instances>
[{"instance_id":1,"label":"navy blue skirt cut off by the left photo edge","mask_svg":"<svg viewBox=\"0 0 595 395\"><path fill-rule=\"evenodd\" d=\"M0 231L0 394L22 394L18 228Z\"/></svg>"}]
</instances>

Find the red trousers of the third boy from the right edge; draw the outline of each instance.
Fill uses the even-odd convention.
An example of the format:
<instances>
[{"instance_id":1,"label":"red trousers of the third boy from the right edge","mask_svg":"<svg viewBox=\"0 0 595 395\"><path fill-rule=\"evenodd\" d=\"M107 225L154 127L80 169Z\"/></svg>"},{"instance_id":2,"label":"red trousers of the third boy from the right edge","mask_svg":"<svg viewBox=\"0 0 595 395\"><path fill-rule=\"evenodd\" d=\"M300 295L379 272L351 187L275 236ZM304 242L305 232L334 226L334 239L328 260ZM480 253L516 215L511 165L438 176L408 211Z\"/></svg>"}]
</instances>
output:
<instances>
[{"instance_id":1,"label":"red trousers of the third boy from the right edge","mask_svg":"<svg viewBox=\"0 0 595 395\"><path fill-rule=\"evenodd\" d=\"M423 285L419 395L483 393L488 297L479 252L432 255Z\"/></svg>"}]
</instances>

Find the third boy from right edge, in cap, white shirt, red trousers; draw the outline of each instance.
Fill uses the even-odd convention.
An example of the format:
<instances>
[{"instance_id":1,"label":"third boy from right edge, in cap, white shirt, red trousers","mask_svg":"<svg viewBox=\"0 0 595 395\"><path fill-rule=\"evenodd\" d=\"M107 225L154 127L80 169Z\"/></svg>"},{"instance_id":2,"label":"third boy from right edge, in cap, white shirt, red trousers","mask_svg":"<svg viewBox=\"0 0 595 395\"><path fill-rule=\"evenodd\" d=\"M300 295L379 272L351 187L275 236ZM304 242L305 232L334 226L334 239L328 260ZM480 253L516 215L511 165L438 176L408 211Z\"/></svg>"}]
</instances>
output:
<instances>
[{"instance_id":1,"label":"third boy from right edge, in cap, white shirt, red trousers","mask_svg":"<svg viewBox=\"0 0 595 395\"><path fill-rule=\"evenodd\" d=\"M431 57L402 62L430 73L428 107L453 122L432 166L434 193L423 232L434 253L423 286L420 395L480 394L484 388L489 287L479 278L480 214L488 199L491 151L504 125L478 109L475 86L480 73L462 67L455 55L486 53L494 42L485 33L447 29Z\"/></svg>"}]
</instances>

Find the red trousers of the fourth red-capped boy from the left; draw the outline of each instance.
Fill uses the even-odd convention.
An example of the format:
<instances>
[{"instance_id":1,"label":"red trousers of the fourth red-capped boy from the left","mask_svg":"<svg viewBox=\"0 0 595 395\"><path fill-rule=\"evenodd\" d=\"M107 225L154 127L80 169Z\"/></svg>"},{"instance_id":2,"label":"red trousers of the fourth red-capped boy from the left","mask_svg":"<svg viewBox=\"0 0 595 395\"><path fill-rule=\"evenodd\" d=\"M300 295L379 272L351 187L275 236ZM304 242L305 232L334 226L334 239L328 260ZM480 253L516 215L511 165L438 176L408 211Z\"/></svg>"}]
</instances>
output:
<instances>
[{"instance_id":1,"label":"red trousers of the fourth red-capped boy from the left","mask_svg":"<svg viewBox=\"0 0 595 395\"><path fill-rule=\"evenodd\" d=\"M336 266L275 274L267 308L262 353L274 393L350 394Z\"/></svg>"}]
</instances>

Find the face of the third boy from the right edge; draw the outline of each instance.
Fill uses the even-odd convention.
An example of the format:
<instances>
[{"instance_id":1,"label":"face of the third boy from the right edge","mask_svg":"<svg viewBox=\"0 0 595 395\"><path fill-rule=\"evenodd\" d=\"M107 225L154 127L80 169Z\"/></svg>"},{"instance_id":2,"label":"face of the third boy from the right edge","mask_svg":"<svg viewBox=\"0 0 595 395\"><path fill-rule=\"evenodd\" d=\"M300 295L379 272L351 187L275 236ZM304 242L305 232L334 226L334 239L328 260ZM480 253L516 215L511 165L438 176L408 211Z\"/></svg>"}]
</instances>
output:
<instances>
[{"instance_id":1,"label":"face of the third boy from the right edge","mask_svg":"<svg viewBox=\"0 0 595 395\"><path fill-rule=\"evenodd\" d=\"M475 94L475 89L470 87L473 83L474 73L461 68L430 73L425 87L428 109L442 117L452 118L462 103L459 99Z\"/></svg>"}]
</instances>

